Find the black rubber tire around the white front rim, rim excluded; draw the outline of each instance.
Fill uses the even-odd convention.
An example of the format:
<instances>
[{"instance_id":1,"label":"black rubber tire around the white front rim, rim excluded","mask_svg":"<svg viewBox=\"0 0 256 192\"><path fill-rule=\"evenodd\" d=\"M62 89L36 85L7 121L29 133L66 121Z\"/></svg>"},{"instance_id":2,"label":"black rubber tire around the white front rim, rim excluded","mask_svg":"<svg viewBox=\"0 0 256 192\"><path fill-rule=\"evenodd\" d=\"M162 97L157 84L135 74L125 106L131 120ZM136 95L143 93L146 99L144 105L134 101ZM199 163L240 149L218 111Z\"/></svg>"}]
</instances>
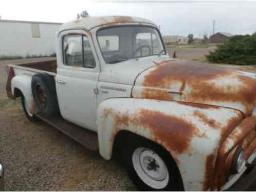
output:
<instances>
[{"instance_id":1,"label":"black rubber tire around the white front rim, rim excluded","mask_svg":"<svg viewBox=\"0 0 256 192\"><path fill-rule=\"evenodd\" d=\"M130 179L133 183L138 187L139 190L142 191L184 191L182 179L179 173L178 166L176 165L174 159L171 155L160 145L144 139L142 137L138 137L134 139L129 139L132 141L127 146L125 146L122 150L123 156L123 165L126 168L126 172L128 173ZM127 142L126 142L127 143ZM146 184L137 174L135 167L133 165L133 153L137 148L146 148L155 152L166 164L166 167L169 172L169 180L167 180L166 186L163 188L153 188ZM159 166L158 166L159 167ZM145 173L145 172L144 172Z\"/></svg>"}]
</instances>

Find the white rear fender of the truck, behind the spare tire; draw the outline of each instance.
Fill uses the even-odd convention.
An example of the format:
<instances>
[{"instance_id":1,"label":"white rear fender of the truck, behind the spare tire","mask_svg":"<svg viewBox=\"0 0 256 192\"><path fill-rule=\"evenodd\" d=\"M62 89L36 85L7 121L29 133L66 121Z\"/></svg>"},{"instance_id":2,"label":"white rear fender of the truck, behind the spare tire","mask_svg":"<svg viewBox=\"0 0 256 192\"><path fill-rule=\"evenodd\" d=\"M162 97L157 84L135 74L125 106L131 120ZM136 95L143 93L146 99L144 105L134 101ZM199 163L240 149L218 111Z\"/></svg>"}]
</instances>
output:
<instances>
[{"instance_id":1,"label":"white rear fender of the truck, behind the spare tire","mask_svg":"<svg viewBox=\"0 0 256 192\"><path fill-rule=\"evenodd\" d=\"M15 89L19 89L28 103L29 111L35 114L36 112L38 112L38 109L35 106L34 99L32 96L31 79L32 76L28 74L21 74L13 77L11 80L11 92L12 95L16 97Z\"/></svg>"}]
</instances>

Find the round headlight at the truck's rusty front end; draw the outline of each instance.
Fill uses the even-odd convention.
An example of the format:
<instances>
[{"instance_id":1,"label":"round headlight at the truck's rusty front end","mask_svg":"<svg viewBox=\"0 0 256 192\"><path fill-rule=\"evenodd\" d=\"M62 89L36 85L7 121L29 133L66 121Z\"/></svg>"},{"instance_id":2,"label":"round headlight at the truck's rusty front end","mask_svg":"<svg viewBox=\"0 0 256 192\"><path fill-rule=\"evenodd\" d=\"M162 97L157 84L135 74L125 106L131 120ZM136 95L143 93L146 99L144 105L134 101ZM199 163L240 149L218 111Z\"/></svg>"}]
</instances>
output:
<instances>
[{"instance_id":1,"label":"round headlight at the truck's rusty front end","mask_svg":"<svg viewBox=\"0 0 256 192\"><path fill-rule=\"evenodd\" d=\"M244 150L238 147L234 153L233 161L231 164L231 174L240 173L243 166L245 166Z\"/></svg>"}]
</instances>

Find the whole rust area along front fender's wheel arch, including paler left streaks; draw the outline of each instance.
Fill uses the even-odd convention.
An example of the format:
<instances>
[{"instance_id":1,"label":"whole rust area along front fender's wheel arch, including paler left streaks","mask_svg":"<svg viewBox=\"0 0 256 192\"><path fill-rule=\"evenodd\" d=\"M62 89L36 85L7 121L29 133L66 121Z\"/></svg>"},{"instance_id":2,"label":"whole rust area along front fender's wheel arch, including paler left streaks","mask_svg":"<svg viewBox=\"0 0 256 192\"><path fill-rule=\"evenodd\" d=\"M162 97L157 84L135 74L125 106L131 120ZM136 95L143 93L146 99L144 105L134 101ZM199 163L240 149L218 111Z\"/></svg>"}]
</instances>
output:
<instances>
[{"instance_id":1,"label":"whole rust area along front fender's wheel arch, including paler left streaks","mask_svg":"<svg viewBox=\"0 0 256 192\"><path fill-rule=\"evenodd\" d=\"M104 119L108 115L114 118L114 132L111 141L114 142L116 134L123 129L121 126L134 127L134 132L139 127L149 130L151 140L164 146L167 151L176 154L184 153L189 149L191 140L194 136L204 137L199 134L197 127L185 119L173 115L166 115L158 111L141 109L132 116L125 114L116 114L111 109L104 109ZM173 155L173 154L172 154ZM173 157L175 159L175 156ZM178 159L175 159L179 163Z\"/></svg>"}]
</instances>

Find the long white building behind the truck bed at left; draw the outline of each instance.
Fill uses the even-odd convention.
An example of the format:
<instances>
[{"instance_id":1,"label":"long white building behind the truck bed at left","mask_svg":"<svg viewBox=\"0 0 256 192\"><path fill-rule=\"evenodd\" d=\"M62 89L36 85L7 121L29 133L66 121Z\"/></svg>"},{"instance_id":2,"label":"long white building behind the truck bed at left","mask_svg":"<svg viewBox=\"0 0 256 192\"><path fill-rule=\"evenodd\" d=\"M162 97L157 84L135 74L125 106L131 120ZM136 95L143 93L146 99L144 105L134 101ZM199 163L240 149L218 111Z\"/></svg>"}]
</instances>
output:
<instances>
[{"instance_id":1,"label":"long white building behind the truck bed at left","mask_svg":"<svg viewBox=\"0 0 256 192\"><path fill-rule=\"evenodd\" d=\"M49 55L61 23L0 20L0 56Z\"/></svg>"}]
</instances>

